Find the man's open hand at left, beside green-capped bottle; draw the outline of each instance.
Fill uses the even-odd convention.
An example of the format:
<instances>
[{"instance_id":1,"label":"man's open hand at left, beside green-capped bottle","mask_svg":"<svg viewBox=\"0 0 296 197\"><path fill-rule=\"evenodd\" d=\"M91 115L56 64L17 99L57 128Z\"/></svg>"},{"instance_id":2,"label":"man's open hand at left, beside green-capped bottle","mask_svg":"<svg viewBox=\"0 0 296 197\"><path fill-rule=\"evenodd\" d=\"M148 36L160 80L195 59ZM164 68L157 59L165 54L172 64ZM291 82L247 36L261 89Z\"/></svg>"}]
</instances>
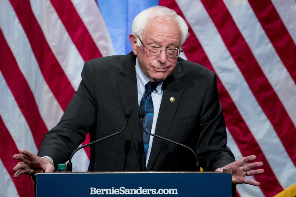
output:
<instances>
[{"instance_id":1,"label":"man's open hand at left, beside green-capped bottle","mask_svg":"<svg viewBox=\"0 0 296 197\"><path fill-rule=\"evenodd\" d=\"M22 174L32 175L35 168L42 168L45 172L53 172L55 167L49 158L41 158L34 153L26 150L20 150L20 154L13 155L13 159L20 160L18 164L12 169L16 171L14 178Z\"/></svg>"}]
</instances>

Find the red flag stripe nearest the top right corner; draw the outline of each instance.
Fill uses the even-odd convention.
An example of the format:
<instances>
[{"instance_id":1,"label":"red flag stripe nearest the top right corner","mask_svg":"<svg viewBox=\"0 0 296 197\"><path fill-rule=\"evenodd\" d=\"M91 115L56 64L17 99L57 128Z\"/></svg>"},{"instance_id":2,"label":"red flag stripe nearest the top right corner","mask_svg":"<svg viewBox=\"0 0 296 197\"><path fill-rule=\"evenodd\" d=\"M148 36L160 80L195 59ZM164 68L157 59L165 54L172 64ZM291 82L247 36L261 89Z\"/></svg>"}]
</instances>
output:
<instances>
[{"instance_id":1,"label":"red flag stripe nearest the top right corner","mask_svg":"<svg viewBox=\"0 0 296 197\"><path fill-rule=\"evenodd\" d=\"M249 0L249 3L278 56L296 83L296 45L273 3L270 0Z\"/></svg>"}]
</instances>

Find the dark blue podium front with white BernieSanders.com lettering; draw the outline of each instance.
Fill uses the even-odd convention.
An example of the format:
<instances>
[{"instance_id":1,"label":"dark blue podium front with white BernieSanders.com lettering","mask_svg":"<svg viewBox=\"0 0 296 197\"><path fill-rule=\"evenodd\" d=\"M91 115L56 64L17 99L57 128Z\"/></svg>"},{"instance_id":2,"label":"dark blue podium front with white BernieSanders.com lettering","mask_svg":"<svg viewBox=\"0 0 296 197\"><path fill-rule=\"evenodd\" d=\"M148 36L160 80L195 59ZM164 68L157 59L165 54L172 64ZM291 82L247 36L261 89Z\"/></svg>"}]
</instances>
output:
<instances>
[{"instance_id":1,"label":"dark blue podium front with white BernieSanders.com lettering","mask_svg":"<svg viewBox=\"0 0 296 197\"><path fill-rule=\"evenodd\" d=\"M36 197L219 196L231 197L231 172L37 173Z\"/></svg>"}]
</instances>

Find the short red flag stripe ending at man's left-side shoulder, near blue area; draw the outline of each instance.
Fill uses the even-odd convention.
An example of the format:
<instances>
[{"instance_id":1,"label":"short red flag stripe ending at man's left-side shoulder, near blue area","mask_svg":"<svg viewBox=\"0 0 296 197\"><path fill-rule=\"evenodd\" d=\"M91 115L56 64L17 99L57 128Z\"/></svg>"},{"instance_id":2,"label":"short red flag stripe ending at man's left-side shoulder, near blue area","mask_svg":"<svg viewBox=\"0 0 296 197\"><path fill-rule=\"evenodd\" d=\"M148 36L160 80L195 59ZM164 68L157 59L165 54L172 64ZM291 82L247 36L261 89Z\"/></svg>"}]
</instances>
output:
<instances>
[{"instance_id":1,"label":"short red flag stripe ending at man's left-side shoulder, near blue area","mask_svg":"<svg viewBox=\"0 0 296 197\"><path fill-rule=\"evenodd\" d=\"M84 61L102 57L71 0L51 0L51 4L55 8Z\"/></svg>"}]
</instances>

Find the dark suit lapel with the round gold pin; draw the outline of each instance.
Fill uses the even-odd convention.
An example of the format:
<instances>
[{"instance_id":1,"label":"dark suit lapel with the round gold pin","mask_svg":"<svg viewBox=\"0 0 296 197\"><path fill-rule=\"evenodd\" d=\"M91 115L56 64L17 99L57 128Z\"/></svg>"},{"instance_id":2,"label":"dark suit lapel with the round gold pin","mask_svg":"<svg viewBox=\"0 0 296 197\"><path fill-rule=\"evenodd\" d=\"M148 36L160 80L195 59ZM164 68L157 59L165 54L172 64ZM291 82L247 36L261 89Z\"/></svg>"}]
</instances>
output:
<instances>
[{"instance_id":1,"label":"dark suit lapel with the round gold pin","mask_svg":"<svg viewBox=\"0 0 296 197\"><path fill-rule=\"evenodd\" d=\"M173 74L165 79L163 82L163 95L160 104L155 134L167 138L173 122L180 98L183 94L185 86L179 81L179 78L184 76L182 65L178 62ZM173 100L172 100L172 99ZM147 164L146 171L151 171L153 164L162 148L164 140L153 138L151 153Z\"/></svg>"}]
</instances>

